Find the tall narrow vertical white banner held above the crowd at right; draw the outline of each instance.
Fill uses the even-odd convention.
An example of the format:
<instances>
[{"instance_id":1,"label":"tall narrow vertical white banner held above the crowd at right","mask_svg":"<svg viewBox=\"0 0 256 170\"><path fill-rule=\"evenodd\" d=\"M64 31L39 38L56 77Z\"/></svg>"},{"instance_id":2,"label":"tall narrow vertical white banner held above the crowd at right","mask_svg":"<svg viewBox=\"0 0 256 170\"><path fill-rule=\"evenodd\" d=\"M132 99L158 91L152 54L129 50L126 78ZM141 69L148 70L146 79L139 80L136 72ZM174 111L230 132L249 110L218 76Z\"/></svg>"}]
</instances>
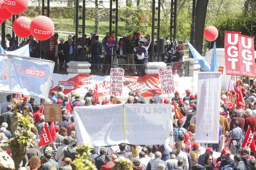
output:
<instances>
[{"instance_id":1,"label":"tall narrow vertical white banner held above the crowd at right","mask_svg":"<svg viewBox=\"0 0 256 170\"><path fill-rule=\"evenodd\" d=\"M219 143L221 72L199 72L196 143Z\"/></svg>"}]
</instances>

